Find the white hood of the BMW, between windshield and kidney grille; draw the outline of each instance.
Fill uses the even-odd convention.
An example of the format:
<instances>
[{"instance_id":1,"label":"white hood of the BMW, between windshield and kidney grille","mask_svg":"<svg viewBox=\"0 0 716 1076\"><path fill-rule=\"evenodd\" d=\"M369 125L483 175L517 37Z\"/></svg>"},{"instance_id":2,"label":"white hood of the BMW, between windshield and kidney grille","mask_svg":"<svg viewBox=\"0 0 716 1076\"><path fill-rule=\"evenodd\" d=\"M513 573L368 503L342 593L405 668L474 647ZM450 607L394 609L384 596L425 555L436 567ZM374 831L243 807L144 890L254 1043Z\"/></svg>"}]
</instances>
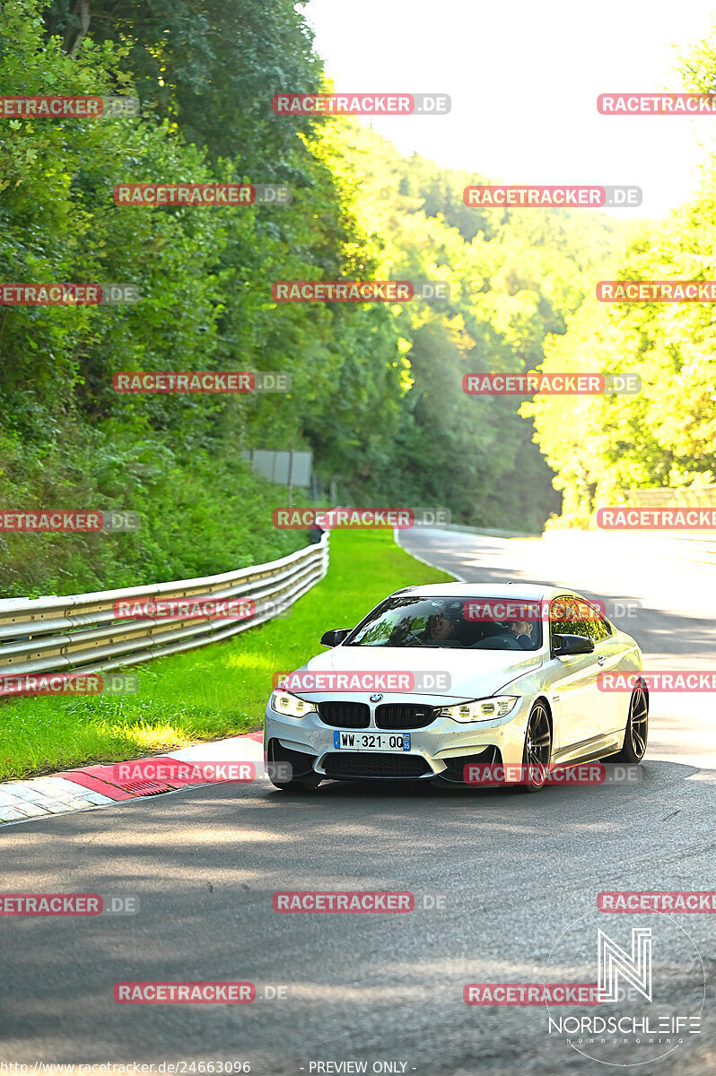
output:
<instances>
[{"instance_id":1,"label":"white hood of the BMW, between windshield and kidney grille","mask_svg":"<svg viewBox=\"0 0 716 1076\"><path fill-rule=\"evenodd\" d=\"M441 672L448 674L450 686L447 690L436 690L426 684L420 688L416 684L410 692L388 692L397 696L419 694L440 698L479 698L494 695L505 684L523 676L543 664L540 651L525 652L523 650L445 650L426 648L418 650L413 647L335 647L324 654L311 657L298 672ZM308 688L296 690L290 686L294 694L321 702L327 698L356 697L365 700L371 690L357 688L354 691L310 691ZM380 691L380 688L375 689Z\"/></svg>"}]
</instances>

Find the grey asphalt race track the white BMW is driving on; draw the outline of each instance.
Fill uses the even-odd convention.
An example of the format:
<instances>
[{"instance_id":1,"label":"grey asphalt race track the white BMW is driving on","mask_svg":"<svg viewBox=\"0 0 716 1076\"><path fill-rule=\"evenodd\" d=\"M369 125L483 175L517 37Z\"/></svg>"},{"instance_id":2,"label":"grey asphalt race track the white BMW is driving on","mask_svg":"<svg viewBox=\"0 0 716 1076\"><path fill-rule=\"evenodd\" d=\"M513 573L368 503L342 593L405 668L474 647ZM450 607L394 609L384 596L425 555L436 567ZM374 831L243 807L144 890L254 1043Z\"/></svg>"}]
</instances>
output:
<instances>
[{"instance_id":1,"label":"grey asphalt race track the white BMW is driving on","mask_svg":"<svg viewBox=\"0 0 716 1076\"><path fill-rule=\"evenodd\" d=\"M542 580L642 603L627 629L647 667L714 661L716 568L591 536L561 547L424 530L404 544L468 580ZM590 922L600 891L714 888L714 696L654 696L650 736L636 785L521 795L327 782L286 796L261 782L5 826L3 892L137 896L139 911L0 919L0 1060L155 1072L249 1062L279 1076L355 1072L363 1061L366 1072L421 1076L606 1073L547 1033L545 1006L467 1006L463 986L594 981L591 942L582 952L558 938L579 917ZM272 910L275 891L311 889L407 890L416 909ZM631 926L654 925L655 978L675 1011L698 1008L693 946L703 960L702 1033L640 1073L716 1067L715 918L603 917L627 948ZM128 980L249 980L290 996L116 1004L113 985ZM654 1057L648 1049L638 1057Z\"/></svg>"}]
</instances>

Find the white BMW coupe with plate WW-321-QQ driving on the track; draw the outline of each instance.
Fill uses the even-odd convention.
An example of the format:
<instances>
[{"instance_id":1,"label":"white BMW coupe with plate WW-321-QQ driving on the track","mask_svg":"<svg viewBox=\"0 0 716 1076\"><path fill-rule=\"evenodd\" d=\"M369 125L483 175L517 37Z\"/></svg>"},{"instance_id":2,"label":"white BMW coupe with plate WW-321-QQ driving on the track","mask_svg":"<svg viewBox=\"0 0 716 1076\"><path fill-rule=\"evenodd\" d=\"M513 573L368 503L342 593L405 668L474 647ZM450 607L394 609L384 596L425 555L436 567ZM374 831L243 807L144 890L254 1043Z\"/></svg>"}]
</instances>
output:
<instances>
[{"instance_id":1,"label":"white BMW coupe with plate WW-321-QQ driving on the track","mask_svg":"<svg viewBox=\"0 0 716 1076\"><path fill-rule=\"evenodd\" d=\"M408 586L321 642L331 649L284 677L266 707L277 788L464 783L471 764L486 763L534 790L556 768L644 756L642 652L574 592ZM604 690L609 674L621 690Z\"/></svg>"}]
</instances>

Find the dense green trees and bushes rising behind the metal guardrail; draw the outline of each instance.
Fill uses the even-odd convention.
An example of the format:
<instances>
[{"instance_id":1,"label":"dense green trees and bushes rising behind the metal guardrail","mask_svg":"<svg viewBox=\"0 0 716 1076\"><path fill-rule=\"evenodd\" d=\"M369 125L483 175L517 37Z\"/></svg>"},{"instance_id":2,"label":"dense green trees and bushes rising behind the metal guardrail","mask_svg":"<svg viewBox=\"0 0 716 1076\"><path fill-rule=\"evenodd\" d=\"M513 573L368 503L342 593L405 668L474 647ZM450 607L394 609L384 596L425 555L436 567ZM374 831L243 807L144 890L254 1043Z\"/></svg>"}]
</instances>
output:
<instances>
[{"instance_id":1,"label":"dense green trees and bushes rising behind the metal guardrail","mask_svg":"<svg viewBox=\"0 0 716 1076\"><path fill-rule=\"evenodd\" d=\"M3 4L0 94L135 95L141 114L2 121L0 279L134 283L141 300L1 309L0 500L144 516L131 538L36 536L31 555L28 539L5 535L6 592L207 574L295 548L299 538L270 526L284 492L252 476L248 448L312 449L324 489L338 480L354 504L439 505L519 529L559 509L519 400L469 398L462 377L530 369L572 324L576 339L616 225L468 209L474 175L404 157L355 122L273 115L273 94L322 80L293 0ZM238 180L287 183L293 202L112 198L123 182ZM450 298L271 300L275 280L339 278L443 280ZM113 373L139 369L283 370L293 387L113 391ZM680 426L671 436L692 439Z\"/></svg>"}]
</instances>

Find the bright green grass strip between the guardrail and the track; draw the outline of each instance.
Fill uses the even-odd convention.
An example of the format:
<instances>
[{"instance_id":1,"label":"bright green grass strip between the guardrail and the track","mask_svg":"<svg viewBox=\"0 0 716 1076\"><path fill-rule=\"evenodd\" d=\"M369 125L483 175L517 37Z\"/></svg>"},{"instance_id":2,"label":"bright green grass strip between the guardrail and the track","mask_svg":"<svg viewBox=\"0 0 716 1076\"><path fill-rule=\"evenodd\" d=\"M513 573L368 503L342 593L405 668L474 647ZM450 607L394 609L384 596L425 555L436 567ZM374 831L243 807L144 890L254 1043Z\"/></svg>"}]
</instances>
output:
<instances>
[{"instance_id":1,"label":"bright green grass strip between the guardrail and the track","mask_svg":"<svg viewBox=\"0 0 716 1076\"><path fill-rule=\"evenodd\" d=\"M321 635L352 627L410 583L449 580L404 553L390 530L335 530L327 577L286 619L136 666L137 695L0 703L0 780L113 762L258 728L277 671L321 652Z\"/></svg>"}]
</instances>

